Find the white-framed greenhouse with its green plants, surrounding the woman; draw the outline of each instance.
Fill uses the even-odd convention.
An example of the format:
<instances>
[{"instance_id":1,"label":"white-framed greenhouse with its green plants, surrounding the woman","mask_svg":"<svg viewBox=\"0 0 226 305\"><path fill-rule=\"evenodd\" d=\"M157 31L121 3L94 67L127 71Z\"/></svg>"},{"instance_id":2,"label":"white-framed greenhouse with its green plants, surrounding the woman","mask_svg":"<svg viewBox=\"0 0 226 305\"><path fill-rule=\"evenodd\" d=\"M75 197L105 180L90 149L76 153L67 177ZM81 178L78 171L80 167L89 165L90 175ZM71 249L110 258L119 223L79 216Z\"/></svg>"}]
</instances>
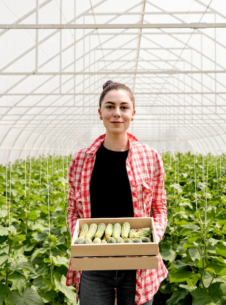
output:
<instances>
[{"instance_id":1,"label":"white-framed greenhouse with its green plants, surrounding the woman","mask_svg":"<svg viewBox=\"0 0 226 305\"><path fill-rule=\"evenodd\" d=\"M76 304L68 169L109 79L166 172L153 305L225 305L225 0L0 0L0 304Z\"/></svg>"}]
</instances>

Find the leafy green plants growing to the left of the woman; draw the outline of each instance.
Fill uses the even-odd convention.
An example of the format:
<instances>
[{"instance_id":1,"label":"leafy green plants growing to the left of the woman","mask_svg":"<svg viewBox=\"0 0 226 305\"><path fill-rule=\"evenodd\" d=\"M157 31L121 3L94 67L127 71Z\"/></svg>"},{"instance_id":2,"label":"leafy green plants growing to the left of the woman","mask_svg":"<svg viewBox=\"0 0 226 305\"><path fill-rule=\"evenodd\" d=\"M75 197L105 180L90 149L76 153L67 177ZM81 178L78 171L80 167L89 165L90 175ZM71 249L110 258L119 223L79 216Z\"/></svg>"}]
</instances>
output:
<instances>
[{"instance_id":1,"label":"leafy green plants growing to the left of the woman","mask_svg":"<svg viewBox=\"0 0 226 305\"><path fill-rule=\"evenodd\" d=\"M8 179L1 171L0 304L75 304L75 287L65 285L71 236L62 157L18 160Z\"/></svg>"}]
</instances>

